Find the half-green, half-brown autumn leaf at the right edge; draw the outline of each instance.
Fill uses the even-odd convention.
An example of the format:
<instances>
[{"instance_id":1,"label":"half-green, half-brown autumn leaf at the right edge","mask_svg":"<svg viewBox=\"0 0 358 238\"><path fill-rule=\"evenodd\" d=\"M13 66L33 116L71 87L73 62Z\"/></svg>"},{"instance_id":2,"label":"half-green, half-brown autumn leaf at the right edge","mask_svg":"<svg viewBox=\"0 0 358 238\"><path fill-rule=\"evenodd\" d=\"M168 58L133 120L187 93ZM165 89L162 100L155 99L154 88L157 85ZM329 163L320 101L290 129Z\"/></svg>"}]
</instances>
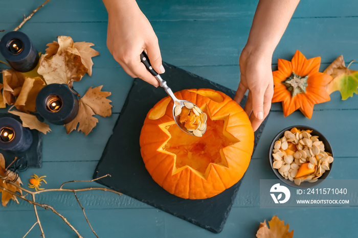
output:
<instances>
[{"instance_id":1,"label":"half-green, half-brown autumn leaf at the right edge","mask_svg":"<svg viewBox=\"0 0 358 238\"><path fill-rule=\"evenodd\" d=\"M353 97L353 93L358 94L358 71L349 69L348 67L346 67L343 55L341 55L323 72L333 78L333 80L326 86L328 93L331 94L338 90L341 92L342 100Z\"/></svg>"}]
</instances>

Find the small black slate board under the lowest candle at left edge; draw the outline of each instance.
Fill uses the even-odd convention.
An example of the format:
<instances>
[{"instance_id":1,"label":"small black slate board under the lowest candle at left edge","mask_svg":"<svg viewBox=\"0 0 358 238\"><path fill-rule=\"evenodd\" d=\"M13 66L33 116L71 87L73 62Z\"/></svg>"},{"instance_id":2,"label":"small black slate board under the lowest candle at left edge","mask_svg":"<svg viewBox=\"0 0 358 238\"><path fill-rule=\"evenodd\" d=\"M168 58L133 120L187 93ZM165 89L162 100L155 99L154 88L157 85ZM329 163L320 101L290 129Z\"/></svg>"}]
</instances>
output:
<instances>
[{"instance_id":1,"label":"small black slate board under the lowest candle at left edge","mask_svg":"<svg viewBox=\"0 0 358 238\"><path fill-rule=\"evenodd\" d=\"M11 113L0 113L0 117L12 117L19 121L21 120L17 115ZM42 132L38 130L30 130L32 134L32 144L29 149L24 152L11 152L1 150L0 153L5 158L5 168L17 157L16 161L11 164L9 170L12 171L24 171L27 168L41 168L42 166Z\"/></svg>"}]
</instances>

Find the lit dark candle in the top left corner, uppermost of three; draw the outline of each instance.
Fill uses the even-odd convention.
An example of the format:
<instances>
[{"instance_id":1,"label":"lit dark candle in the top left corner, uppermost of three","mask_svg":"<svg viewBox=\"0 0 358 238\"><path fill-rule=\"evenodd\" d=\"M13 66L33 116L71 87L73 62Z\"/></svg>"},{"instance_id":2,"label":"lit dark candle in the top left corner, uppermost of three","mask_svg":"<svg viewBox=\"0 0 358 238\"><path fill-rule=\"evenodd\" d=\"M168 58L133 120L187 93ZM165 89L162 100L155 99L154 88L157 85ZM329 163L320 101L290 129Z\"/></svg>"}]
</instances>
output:
<instances>
[{"instance_id":1,"label":"lit dark candle in the top left corner, uppermost of three","mask_svg":"<svg viewBox=\"0 0 358 238\"><path fill-rule=\"evenodd\" d=\"M38 63L38 53L30 38L23 32L12 31L0 41L0 52L18 72L29 72Z\"/></svg>"}]
</instances>

